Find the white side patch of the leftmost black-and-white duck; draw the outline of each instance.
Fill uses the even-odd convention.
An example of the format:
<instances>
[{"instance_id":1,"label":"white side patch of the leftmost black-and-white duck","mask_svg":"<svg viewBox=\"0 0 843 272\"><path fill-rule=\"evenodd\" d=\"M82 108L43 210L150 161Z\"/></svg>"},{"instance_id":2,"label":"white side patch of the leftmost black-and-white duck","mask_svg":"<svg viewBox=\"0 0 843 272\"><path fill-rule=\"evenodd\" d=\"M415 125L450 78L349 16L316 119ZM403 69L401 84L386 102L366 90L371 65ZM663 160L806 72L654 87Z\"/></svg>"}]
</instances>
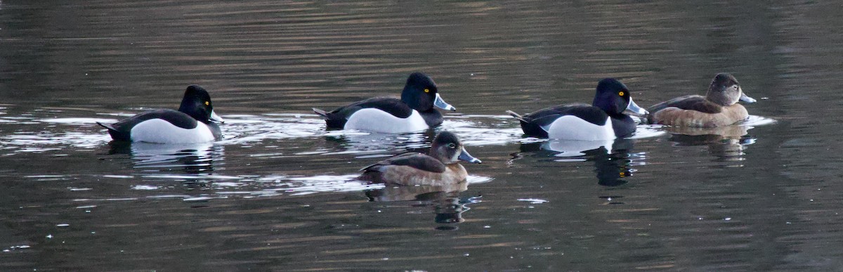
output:
<instances>
[{"instance_id":1,"label":"white side patch of the leftmost black-and-white duck","mask_svg":"<svg viewBox=\"0 0 843 272\"><path fill-rule=\"evenodd\" d=\"M158 144L207 143L214 140L211 129L197 122L196 128L185 129L161 119L149 119L135 125L132 141Z\"/></svg>"}]
</instances>

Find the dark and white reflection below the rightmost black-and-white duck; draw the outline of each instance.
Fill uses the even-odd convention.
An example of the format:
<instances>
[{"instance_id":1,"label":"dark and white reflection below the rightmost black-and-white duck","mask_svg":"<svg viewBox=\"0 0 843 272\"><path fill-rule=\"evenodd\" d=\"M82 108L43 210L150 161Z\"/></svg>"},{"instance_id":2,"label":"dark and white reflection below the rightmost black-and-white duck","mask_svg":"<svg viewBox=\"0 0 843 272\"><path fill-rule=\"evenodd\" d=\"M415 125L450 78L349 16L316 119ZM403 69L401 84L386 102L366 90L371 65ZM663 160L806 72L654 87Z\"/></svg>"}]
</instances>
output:
<instances>
[{"instance_id":1,"label":"dark and white reflection below the rightmost black-and-white duck","mask_svg":"<svg viewBox=\"0 0 843 272\"><path fill-rule=\"evenodd\" d=\"M614 187L626 184L626 177L632 176L630 150L635 142L631 139L606 141L550 140L541 143L521 144L521 152L554 152L561 157L556 161L592 161L597 183Z\"/></svg>"}]
</instances>

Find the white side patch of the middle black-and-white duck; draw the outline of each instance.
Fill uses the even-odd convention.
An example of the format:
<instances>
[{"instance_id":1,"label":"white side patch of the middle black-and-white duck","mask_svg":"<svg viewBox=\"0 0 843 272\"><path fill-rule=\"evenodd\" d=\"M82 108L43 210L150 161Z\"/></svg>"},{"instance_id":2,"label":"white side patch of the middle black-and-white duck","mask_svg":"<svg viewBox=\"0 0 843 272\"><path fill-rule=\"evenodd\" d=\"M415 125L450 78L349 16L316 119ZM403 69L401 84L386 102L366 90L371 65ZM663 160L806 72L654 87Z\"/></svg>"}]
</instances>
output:
<instances>
[{"instance_id":1,"label":"white side patch of the middle black-and-white duck","mask_svg":"<svg viewBox=\"0 0 843 272\"><path fill-rule=\"evenodd\" d=\"M389 112L367 108L348 117L346 129L365 130L376 133L411 133L429 128L427 122L416 110L410 117L399 118Z\"/></svg>"}]
</instances>

